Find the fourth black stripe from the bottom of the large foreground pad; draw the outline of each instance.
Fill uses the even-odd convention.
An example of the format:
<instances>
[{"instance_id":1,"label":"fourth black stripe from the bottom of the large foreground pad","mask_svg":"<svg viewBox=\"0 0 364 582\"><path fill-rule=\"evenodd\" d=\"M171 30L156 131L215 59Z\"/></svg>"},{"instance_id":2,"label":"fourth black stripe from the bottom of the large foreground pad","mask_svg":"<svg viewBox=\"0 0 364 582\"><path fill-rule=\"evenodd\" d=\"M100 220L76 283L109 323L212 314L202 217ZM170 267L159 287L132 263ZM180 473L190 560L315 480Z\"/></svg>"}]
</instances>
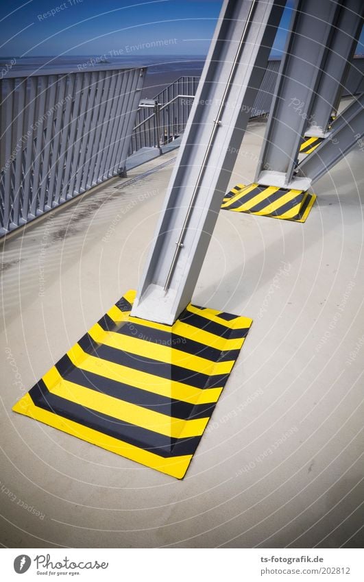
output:
<instances>
[{"instance_id":1,"label":"fourth black stripe from the bottom of the large foreground pad","mask_svg":"<svg viewBox=\"0 0 364 582\"><path fill-rule=\"evenodd\" d=\"M234 315L232 317L236 316ZM210 360L211 362L227 362L229 360L234 360L239 356L240 350L217 350L217 348L210 348L209 345L199 343L194 339L182 337L182 335L177 335L164 330L149 328L134 322L125 322L121 326L114 324L112 327L108 322L104 322L103 319L100 319L99 325L105 331L120 333L127 337L144 339L145 341L158 343L159 345L168 345L170 348L174 348L179 352L199 356L200 358ZM241 337L245 337L247 331L248 330L241 330Z\"/></svg>"}]
</instances>

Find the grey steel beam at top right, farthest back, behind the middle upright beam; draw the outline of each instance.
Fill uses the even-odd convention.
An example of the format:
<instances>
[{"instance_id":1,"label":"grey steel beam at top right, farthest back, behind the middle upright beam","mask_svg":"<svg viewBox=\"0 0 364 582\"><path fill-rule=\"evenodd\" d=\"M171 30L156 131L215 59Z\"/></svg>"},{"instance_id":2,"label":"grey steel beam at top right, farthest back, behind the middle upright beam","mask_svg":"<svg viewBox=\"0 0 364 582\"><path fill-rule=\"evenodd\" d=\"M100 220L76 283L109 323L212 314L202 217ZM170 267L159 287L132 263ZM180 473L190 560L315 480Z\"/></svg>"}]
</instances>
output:
<instances>
[{"instance_id":1,"label":"grey steel beam at top right, farthest back, behind the middle upright beam","mask_svg":"<svg viewBox=\"0 0 364 582\"><path fill-rule=\"evenodd\" d=\"M363 27L363 0L346 0L341 6L321 67L320 79L308 110L307 137L325 137L330 116L339 101Z\"/></svg>"}]
</instances>

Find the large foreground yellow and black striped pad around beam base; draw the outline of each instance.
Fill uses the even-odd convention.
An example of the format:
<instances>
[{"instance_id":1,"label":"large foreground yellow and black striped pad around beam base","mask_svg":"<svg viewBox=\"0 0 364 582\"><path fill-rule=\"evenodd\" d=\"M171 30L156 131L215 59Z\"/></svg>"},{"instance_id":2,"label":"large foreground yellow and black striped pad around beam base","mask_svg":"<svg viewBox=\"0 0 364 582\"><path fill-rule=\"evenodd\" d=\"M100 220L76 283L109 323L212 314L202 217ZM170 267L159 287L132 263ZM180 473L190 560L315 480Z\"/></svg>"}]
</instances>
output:
<instances>
[{"instance_id":1,"label":"large foreground yellow and black striped pad around beam base","mask_svg":"<svg viewBox=\"0 0 364 582\"><path fill-rule=\"evenodd\" d=\"M123 298L13 408L183 478L252 319L189 304L173 326Z\"/></svg>"}]
</instances>

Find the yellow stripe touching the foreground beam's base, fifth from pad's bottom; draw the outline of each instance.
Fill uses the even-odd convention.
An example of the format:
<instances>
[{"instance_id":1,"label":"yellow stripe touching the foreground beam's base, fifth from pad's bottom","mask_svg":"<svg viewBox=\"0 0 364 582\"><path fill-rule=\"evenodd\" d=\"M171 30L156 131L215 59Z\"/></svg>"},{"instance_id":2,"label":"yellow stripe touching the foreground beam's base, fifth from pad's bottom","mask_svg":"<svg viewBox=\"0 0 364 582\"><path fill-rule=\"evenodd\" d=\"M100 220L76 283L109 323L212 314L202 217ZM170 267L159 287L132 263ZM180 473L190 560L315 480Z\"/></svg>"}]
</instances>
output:
<instances>
[{"instance_id":1,"label":"yellow stripe touching the foreground beam's base, fifth from pad's bottom","mask_svg":"<svg viewBox=\"0 0 364 582\"><path fill-rule=\"evenodd\" d=\"M123 311L120 311L117 306L114 305L108 311L108 316L111 317L112 321L116 324L121 322L130 322L132 324L139 324L141 326L145 326L147 328L154 328L161 331L167 331L171 333L171 331L175 335L180 335L185 337L186 339L192 339L193 341L198 341L199 343L203 343L204 345L208 345L210 348L216 348L217 350L221 350L221 352L225 350L240 350L241 346L243 345L243 338L238 339L224 339L223 337L219 337L210 332L206 332L205 330L199 330L194 326L190 326L189 324L185 324L184 322L180 322L179 319L173 324L173 326L167 326L165 324L156 324L155 322L149 322L148 319L140 319L139 317L132 317ZM251 320L249 320L251 322Z\"/></svg>"}]
</instances>

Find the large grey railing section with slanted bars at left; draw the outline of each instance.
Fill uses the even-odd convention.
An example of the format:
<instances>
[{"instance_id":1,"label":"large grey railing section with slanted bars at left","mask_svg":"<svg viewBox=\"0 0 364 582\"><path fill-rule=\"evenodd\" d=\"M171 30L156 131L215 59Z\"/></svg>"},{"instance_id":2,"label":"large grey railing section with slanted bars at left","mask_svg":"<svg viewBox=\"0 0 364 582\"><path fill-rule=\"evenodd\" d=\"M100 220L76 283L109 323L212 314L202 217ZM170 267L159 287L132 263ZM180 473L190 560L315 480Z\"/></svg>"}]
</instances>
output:
<instances>
[{"instance_id":1,"label":"large grey railing section with slanted bars at left","mask_svg":"<svg viewBox=\"0 0 364 582\"><path fill-rule=\"evenodd\" d=\"M0 236L123 172L145 69L0 81Z\"/></svg>"}]
</instances>

